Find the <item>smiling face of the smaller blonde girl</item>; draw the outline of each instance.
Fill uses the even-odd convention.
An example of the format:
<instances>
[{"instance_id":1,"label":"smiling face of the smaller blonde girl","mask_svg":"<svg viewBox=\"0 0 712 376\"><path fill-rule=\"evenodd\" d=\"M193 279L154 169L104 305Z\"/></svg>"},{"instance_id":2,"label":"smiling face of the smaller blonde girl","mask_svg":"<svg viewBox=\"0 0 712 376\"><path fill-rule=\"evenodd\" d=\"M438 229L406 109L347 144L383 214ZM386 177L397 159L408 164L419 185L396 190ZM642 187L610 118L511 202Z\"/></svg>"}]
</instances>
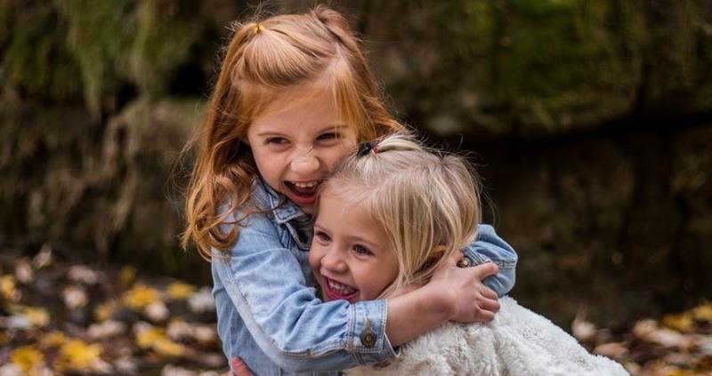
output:
<instances>
[{"instance_id":1,"label":"smiling face of the smaller blonde girl","mask_svg":"<svg viewBox=\"0 0 712 376\"><path fill-rule=\"evenodd\" d=\"M364 204L320 196L309 263L324 300L374 300L398 275L388 236Z\"/></svg>"}]
</instances>

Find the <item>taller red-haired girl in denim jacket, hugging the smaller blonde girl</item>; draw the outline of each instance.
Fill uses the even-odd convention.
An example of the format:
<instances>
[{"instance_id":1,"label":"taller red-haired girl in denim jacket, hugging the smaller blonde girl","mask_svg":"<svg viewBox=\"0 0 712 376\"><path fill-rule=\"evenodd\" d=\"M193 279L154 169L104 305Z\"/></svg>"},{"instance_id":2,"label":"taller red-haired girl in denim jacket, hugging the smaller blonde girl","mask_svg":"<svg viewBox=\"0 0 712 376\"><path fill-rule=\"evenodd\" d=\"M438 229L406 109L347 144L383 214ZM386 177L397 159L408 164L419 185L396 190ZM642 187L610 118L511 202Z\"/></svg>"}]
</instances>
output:
<instances>
[{"instance_id":1,"label":"taller red-haired girl in denim jacket, hugging the smaller blonde girl","mask_svg":"<svg viewBox=\"0 0 712 376\"><path fill-rule=\"evenodd\" d=\"M237 28L197 139L183 244L211 260L218 332L228 358L257 374L375 364L446 321L490 321L498 268L441 268L388 300L323 303L308 256L317 189L346 152L405 128L380 99L359 41L317 6ZM511 248L494 232L465 252ZM425 303L426 302L426 303Z\"/></svg>"}]
</instances>

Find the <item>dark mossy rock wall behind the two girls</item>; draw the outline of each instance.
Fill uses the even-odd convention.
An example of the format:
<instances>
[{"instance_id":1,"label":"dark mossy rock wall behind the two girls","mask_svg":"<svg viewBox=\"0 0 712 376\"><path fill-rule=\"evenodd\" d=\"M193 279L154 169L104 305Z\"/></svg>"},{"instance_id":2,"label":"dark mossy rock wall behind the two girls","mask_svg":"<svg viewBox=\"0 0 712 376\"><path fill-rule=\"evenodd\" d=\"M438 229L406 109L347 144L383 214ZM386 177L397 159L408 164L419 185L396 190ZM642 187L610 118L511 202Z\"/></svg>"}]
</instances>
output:
<instances>
[{"instance_id":1,"label":"dark mossy rock wall behind the two girls","mask_svg":"<svg viewBox=\"0 0 712 376\"><path fill-rule=\"evenodd\" d=\"M482 156L525 305L564 324L587 304L615 324L712 297L708 0L333 5L401 117ZM177 246L182 150L231 21L253 13L226 0L0 4L0 245L206 278Z\"/></svg>"}]
</instances>

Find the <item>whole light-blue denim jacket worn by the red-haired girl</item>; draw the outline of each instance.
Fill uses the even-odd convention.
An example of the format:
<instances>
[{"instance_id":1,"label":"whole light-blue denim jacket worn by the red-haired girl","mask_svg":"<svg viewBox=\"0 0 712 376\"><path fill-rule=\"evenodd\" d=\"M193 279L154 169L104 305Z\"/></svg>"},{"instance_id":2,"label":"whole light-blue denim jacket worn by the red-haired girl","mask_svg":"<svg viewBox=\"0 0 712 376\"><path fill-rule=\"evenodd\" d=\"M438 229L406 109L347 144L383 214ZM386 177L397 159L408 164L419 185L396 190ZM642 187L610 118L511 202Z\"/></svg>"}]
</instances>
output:
<instances>
[{"instance_id":1,"label":"whole light-blue denim jacket worn by the red-haired girl","mask_svg":"<svg viewBox=\"0 0 712 376\"><path fill-rule=\"evenodd\" d=\"M213 251L213 296L225 356L239 356L257 375L336 375L396 356L385 336L386 300L322 302L309 266L311 238L295 225L305 214L294 203L282 203L261 179L253 184L252 199L266 213L240 224L228 252ZM499 295L514 286L516 253L490 226L481 225L465 256L473 264L498 264L498 275L485 284Z\"/></svg>"}]
</instances>

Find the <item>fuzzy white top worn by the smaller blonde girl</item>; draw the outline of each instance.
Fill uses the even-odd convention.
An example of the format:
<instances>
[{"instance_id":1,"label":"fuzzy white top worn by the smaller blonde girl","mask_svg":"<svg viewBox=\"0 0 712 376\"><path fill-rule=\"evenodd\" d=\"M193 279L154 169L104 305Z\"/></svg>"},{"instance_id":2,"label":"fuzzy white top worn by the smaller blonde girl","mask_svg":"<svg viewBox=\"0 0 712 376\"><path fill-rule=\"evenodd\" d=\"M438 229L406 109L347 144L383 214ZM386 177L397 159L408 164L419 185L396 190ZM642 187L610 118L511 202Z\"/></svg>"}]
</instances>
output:
<instances>
[{"instance_id":1,"label":"fuzzy white top worn by the smaller blonde girl","mask_svg":"<svg viewBox=\"0 0 712 376\"><path fill-rule=\"evenodd\" d=\"M628 375L618 363L587 352L544 316L514 299L499 300L490 324L448 323L401 348L386 366L348 375Z\"/></svg>"}]
</instances>

